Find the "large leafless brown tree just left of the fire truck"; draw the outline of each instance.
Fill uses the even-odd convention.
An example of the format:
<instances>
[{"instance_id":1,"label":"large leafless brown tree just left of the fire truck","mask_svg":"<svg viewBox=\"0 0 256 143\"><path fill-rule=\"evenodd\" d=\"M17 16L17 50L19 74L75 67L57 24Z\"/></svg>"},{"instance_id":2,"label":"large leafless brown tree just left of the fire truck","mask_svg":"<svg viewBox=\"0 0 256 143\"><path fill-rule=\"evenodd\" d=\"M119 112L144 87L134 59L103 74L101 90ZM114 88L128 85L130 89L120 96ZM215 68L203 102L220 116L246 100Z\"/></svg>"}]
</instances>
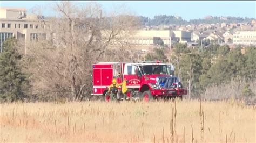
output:
<instances>
[{"instance_id":1,"label":"large leafless brown tree just left of the fire truck","mask_svg":"<svg viewBox=\"0 0 256 143\"><path fill-rule=\"evenodd\" d=\"M45 23L52 37L31 44L26 71L34 94L78 101L91 94L92 63L109 59L105 53L110 45L129 46L125 38L138 20L125 12L107 15L97 3L59 2L55 10L58 16ZM127 52L117 52L122 50Z\"/></svg>"}]
</instances>

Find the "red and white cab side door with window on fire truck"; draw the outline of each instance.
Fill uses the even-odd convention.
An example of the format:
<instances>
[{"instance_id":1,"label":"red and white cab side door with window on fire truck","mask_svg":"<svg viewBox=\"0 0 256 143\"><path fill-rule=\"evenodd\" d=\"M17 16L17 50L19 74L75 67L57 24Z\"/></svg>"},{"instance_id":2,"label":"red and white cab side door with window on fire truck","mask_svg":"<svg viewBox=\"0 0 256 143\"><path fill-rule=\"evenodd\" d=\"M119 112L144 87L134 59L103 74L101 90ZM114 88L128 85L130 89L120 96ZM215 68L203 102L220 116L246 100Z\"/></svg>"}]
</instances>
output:
<instances>
[{"instance_id":1,"label":"red and white cab side door with window on fire truck","mask_svg":"<svg viewBox=\"0 0 256 143\"><path fill-rule=\"evenodd\" d=\"M127 88L140 88L140 77L137 76L138 68L136 65L126 64L124 68L124 78L129 82Z\"/></svg>"}]
</instances>

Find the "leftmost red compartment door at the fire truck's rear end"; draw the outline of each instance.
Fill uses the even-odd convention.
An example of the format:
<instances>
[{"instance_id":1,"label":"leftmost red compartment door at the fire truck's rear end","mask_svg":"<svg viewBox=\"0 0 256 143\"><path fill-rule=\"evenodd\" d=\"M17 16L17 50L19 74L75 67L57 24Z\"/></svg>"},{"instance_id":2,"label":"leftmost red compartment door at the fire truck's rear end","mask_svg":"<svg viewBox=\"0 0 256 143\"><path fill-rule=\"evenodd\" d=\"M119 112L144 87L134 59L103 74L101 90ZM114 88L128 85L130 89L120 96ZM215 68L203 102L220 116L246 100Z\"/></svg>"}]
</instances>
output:
<instances>
[{"instance_id":1,"label":"leftmost red compartment door at the fire truck's rear end","mask_svg":"<svg viewBox=\"0 0 256 143\"><path fill-rule=\"evenodd\" d=\"M101 69L93 68L93 94L102 94L102 76L100 75Z\"/></svg>"}]
</instances>

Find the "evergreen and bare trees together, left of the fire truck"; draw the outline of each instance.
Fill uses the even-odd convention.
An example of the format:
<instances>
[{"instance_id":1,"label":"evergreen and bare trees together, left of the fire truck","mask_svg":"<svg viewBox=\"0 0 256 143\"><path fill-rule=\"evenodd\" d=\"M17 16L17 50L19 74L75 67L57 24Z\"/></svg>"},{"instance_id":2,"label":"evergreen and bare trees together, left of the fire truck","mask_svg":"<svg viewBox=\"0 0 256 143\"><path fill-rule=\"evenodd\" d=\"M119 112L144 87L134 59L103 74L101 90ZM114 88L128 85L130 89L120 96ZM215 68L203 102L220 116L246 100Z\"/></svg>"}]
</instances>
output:
<instances>
[{"instance_id":1,"label":"evergreen and bare trees together, left of the fire truck","mask_svg":"<svg viewBox=\"0 0 256 143\"><path fill-rule=\"evenodd\" d=\"M133 34L138 19L120 9L105 13L97 3L58 2L58 17L39 19L50 27L50 39L32 42L26 54L19 52L22 46L15 38L6 40L0 55L0 99L79 101L90 95L92 63L129 58L123 39ZM109 48L114 44L121 46Z\"/></svg>"}]
</instances>

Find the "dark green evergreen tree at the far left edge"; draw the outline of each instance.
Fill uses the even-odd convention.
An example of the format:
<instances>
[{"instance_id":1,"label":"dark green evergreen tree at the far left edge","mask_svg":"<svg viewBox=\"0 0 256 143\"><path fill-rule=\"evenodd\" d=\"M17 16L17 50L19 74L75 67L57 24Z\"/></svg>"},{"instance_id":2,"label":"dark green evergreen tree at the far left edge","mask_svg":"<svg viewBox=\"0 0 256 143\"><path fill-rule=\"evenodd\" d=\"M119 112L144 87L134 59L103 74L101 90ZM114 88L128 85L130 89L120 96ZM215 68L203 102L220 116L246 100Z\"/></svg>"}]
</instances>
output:
<instances>
[{"instance_id":1,"label":"dark green evergreen tree at the far left edge","mask_svg":"<svg viewBox=\"0 0 256 143\"><path fill-rule=\"evenodd\" d=\"M4 51L0 54L0 100L23 100L28 79L19 67L22 55L17 52L16 39L7 39L3 47Z\"/></svg>"}]
</instances>

